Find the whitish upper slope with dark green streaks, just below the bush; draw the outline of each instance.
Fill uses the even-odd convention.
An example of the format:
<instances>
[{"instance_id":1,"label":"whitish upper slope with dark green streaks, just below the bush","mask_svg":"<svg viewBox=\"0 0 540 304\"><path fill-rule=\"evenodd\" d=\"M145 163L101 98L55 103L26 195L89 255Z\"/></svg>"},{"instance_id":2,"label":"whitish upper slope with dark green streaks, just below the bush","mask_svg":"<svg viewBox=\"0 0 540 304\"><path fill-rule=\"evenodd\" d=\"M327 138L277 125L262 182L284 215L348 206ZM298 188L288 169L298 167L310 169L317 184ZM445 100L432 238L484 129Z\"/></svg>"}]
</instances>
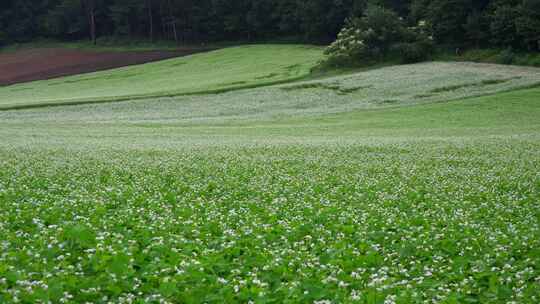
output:
<instances>
[{"instance_id":1,"label":"whitish upper slope with dark green streaks, just below the bush","mask_svg":"<svg viewBox=\"0 0 540 304\"><path fill-rule=\"evenodd\" d=\"M41 121L86 121L96 118L102 123L260 121L444 102L539 83L540 69L537 68L424 63L223 94L61 107L29 113ZM39 113L39 117L36 113ZM3 119L9 117L4 116Z\"/></svg>"}]
</instances>

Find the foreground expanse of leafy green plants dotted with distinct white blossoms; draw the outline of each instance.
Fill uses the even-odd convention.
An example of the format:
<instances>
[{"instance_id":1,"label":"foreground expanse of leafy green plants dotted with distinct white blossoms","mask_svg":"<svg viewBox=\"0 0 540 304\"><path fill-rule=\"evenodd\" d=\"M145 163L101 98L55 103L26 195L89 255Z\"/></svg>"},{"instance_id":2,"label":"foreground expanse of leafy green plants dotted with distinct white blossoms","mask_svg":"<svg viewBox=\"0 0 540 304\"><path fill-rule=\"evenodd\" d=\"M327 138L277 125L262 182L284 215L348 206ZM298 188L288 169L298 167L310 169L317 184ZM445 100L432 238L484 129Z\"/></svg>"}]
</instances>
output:
<instances>
[{"instance_id":1,"label":"foreground expanse of leafy green plants dotted with distinct white blossoms","mask_svg":"<svg viewBox=\"0 0 540 304\"><path fill-rule=\"evenodd\" d=\"M540 299L538 141L0 151L2 302Z\"/></svg>"}]
</instances>

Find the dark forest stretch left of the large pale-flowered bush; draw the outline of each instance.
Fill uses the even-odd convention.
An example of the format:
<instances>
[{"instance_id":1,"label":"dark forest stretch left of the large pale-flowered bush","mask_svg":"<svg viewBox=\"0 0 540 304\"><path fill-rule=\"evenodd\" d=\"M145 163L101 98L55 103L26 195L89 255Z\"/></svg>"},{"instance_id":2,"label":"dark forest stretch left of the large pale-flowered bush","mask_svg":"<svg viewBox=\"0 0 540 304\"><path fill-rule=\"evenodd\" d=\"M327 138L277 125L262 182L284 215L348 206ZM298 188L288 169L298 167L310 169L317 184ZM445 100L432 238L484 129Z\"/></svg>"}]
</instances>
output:
<instances>
[{"instance_id":1,"label":"dark forest stretch left of the large pale-flowered bush","mask_svg":"<svg viewBox=\"0 0 540 304\"><path fill-rule=\"evenodd\" d=\"M358 0L1 0L0 37L332 40ZM1 39L1 38L0 38Z\"/></svg>"}]
</instances>

